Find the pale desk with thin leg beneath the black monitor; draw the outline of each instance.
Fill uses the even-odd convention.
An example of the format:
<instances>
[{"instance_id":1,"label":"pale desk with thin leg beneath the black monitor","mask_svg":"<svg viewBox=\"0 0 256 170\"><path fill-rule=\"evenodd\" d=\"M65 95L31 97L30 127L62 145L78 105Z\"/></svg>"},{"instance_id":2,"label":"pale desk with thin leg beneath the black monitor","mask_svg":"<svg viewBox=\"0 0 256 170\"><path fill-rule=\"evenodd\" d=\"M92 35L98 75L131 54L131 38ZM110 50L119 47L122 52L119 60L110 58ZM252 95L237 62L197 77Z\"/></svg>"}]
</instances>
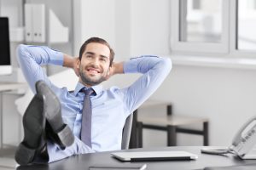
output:
<instances>
[{"instance_id":1,"label":"pale desk with thin leg beneath the black monitor","mask_svg":"<svg viewBox=\"0 0 256 170\"><path fill-rule=\"evenodd\" d=\"M3 93L26 87L25 82L0 82L0 150L3 149Z\"/></svg>"}]
</instances>

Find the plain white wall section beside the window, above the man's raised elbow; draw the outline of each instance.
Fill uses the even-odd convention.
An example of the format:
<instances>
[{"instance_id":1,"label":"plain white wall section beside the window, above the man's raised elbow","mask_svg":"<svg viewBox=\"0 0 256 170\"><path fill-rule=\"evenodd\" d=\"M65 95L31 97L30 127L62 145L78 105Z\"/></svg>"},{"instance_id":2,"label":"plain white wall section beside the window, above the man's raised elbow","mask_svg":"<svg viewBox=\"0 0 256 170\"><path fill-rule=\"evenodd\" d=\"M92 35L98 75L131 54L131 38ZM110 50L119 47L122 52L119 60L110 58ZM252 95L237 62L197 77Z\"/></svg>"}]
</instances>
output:
<instances>
[{"instance_id":1,"label":"plain white wall section beside the window, above the man's raised elbow","mask_svg":"<svg viewBox=\"0 0 256 170\"><path fill-rule=\"evenodd\" d=\"M170 1L131 0L131 55L170 54Z\"/></svg>"}]
</instances>

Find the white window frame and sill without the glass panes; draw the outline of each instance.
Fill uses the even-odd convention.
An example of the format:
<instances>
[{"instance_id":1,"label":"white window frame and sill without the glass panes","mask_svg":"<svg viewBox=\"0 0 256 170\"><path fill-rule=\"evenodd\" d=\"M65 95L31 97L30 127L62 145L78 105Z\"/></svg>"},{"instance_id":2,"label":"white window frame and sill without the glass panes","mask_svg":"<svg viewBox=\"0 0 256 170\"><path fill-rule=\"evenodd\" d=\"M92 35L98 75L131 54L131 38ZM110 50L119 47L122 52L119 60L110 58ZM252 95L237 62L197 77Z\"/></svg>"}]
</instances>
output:
<instances>
[{"instance_id":1,"label":"white window frame and sill without the glass panes","mask_svg":"<svg viewBox=\"0 0 256 170\"><path fill-rule=\"evenodd\" d=\"M178 35L178 27L175 26L177 22L177 0L171 2L171 30L170 30L170 50L172 61L175 65L196 65L196 66L207 66L207 67L220 67L220 68L232 68L232 69L256 69L256 51L238 50L236 48L237 41L237 25L238 25L238 1L239 0L224 0L230 2L228 18L229 21L229 32L227 39L228 53L219 53L214 50L200 50L201 47L194 47L192 50L186 49L186 46L177 48L176 42L173 40L172 35ZM175 17L176 16L176 17ZM183 42L186 43L186 42Z\"/></svg>"}]
</instances>

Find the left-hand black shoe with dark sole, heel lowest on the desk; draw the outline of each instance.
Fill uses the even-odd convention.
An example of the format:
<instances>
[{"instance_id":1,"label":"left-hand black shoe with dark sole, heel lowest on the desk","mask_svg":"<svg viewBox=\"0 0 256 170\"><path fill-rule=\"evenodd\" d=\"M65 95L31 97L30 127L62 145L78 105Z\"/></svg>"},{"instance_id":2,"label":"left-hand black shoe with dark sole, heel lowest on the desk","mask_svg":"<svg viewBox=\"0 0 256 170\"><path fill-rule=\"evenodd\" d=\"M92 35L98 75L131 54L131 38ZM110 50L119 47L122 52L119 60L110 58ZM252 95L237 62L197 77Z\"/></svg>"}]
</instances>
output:
<instances>
[{"instance_id":1,"label":"left-hand black shoe with dark sole, heel lowest on the desk","mask_svg":"<svg viewBox=\"0 0 256 170\"><path fill-rule=\"evenodd\" d=\"M23 116L24 139L15 152L15 160L20 165L32 163L45 148L45 116L42 96L36 94Z\"/></svg>"}]
</instances>

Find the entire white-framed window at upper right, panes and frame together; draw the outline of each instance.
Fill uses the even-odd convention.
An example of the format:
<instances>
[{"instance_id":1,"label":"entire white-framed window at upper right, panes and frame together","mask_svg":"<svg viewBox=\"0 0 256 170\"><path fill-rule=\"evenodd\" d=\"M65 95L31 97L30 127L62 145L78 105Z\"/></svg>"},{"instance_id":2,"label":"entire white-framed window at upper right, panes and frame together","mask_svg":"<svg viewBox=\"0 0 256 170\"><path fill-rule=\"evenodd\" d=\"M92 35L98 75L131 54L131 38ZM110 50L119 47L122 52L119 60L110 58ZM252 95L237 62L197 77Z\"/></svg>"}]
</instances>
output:
<instances>
[{"instance_id":1,"label":"entire white-framed window at upper right, panes and frame together","mask_svg":"<svg viewBox=\"0 0 256 170\"><path fill-rule=\"evenodd\" d=\"M171 4L172 51L256 52L256 0L172 0Z\"/></svg>"}]
</instances>

